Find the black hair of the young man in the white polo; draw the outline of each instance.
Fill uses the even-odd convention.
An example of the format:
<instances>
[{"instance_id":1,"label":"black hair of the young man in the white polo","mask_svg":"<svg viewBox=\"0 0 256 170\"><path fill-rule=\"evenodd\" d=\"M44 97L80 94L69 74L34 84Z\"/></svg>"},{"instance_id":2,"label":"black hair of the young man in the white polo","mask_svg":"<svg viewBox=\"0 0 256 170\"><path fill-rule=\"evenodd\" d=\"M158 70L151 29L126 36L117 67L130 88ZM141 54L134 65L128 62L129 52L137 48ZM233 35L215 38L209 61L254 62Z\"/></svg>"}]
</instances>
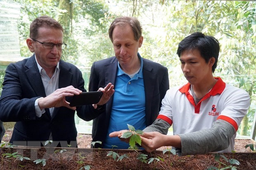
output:
<instances>
[{"instance_id":1,"label":"black hair of the young man in the white polo","mask_svg":"<svg viewBox=\"0 0 256 170\"><path fill-rule=\"evenodd\" d=\"M212 72L214 72L217 67L220 52L218 40L212 36L204 35L203 33L192 33L179 43L177 54L180 57L183 50L193 49L197 49L200 52L206 63L209 62L211 57L215 58L215 63L212 66Z\"/></svg>"}]
</instances>

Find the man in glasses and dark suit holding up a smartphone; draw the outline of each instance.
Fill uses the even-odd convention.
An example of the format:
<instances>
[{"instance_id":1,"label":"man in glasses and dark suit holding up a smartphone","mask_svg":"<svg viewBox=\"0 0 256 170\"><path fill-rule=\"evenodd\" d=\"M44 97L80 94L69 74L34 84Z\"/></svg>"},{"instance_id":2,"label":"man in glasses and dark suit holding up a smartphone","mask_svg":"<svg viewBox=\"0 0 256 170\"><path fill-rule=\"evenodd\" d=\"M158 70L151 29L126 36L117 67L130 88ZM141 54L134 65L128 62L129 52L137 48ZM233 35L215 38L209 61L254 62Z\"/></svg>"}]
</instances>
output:
<instances>
[{"instance_id":1,"label":"man in glasses and dark suit holding up a smartphone","mask_svg":"<svg viewBox=\"0 0 256 170\"><path fill-rule=\"evenodd\" d=\"M0 120L16 122L10 143L40 146L40 142L53 140L56 146L76 147L75 111L85 119L86 114L99 114L102 109L69 106L73 95L86 90L81 71L61 60L66 44L57 21L48 16L35 19L26 43L34 54L8 65L0 98ZM113 88L111 84L99 88L104 94L98 105L109 100Z\"/></svg>"}]
</instances>

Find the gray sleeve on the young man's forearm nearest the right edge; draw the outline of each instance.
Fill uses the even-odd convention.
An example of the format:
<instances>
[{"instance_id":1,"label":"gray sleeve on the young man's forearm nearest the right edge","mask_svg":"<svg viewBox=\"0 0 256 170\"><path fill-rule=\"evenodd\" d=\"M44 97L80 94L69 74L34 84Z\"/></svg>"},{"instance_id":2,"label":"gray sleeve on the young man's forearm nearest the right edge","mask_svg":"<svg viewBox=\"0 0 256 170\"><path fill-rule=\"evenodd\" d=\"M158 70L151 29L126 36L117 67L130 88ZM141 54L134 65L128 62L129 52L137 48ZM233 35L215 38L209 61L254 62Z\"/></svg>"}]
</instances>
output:
<instances>
[{"instance_id":1,"label":"gray sleeve on the young man's forearm nearest the right edge","mask_svg":"<svg viewBox=\"0 0 256 170\"><path fill-rule=\"evenodd\" d=\"M228 148L235 128L227 121L218 119L210 129L199 130L193 133L178 134L182 148L176 148L179 156L206 154Z\"/></svg>"}]
</instances>

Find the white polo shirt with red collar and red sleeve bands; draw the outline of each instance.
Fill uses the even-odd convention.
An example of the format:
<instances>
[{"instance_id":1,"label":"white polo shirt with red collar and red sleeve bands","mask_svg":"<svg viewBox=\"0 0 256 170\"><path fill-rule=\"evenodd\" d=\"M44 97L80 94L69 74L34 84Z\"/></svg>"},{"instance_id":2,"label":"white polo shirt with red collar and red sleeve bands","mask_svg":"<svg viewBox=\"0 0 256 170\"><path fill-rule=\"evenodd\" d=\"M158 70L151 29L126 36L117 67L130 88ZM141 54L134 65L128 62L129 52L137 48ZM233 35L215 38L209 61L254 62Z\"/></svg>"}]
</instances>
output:
<instances>
[{"instance_id":1,"label":"white polo shirt with red collar and red sleeve bands","mask_svg":"<svg viewBox=\"0 0 256 170\"><path fill-rule=\"evenodd\" d=\"M237 131L250 105L249 94L218 79L211 91L197 105L190 84L174 87L166 92L157 119L173 124L173 134L185 134L209 129L217 119L228 121ZM234 150L235 135L225 151Z\"/></svg>"}]
</instances>

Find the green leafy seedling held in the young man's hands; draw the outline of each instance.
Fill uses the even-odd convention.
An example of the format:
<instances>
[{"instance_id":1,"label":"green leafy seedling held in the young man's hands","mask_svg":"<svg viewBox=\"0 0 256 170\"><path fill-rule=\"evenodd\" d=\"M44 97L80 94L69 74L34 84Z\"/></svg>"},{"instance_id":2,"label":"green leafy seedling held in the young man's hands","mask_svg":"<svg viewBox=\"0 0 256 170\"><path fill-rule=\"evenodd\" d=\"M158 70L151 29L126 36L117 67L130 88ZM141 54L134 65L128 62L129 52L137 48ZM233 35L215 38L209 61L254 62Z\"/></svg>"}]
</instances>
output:
<instances>
[{"instance_id":1,"label":"green leafy seedling held in the young man's hands","mask_svg":"<svg viewBox=\"0 0 256 170\"><path fill-rule=\"evenodd\" d=\"M129 131L123 133L123 135L121 136L122 138L129 138L130 137L130 141L129 141L129 145L130 147L128 149L135 149L137 150L138 147L136 146L136 144L141 145L141 138L140 135L143 134L142 130L135 130L135 128L132 125L127 124Z\"/></svg>"}]
</instances>

